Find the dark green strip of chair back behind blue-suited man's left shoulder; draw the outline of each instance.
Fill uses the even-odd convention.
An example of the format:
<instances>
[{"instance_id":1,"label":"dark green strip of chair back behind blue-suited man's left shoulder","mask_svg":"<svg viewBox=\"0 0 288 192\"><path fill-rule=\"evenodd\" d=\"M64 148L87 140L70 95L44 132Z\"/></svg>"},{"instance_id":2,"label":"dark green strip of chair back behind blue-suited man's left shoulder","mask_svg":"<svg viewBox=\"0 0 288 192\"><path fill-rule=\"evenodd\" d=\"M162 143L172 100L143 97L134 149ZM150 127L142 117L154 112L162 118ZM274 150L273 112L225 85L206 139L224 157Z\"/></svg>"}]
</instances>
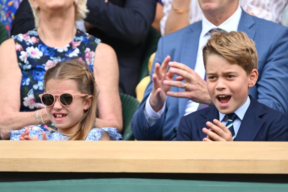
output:
<instances>
[{"instance_id":1,"label":"dark green strip of chair back behind blue-suited man's left shoulder","mask_svg":"<svg viewBox=\"0 0 288 192\"><path fill-rule=\"evenodd\" d=\"M140 69L139 82L149 74L148 61L150 56L157 50L157 44L160 37L160 33L154 27L151 27L147 38L147 44L145 48L146 51L143 55L143 63Z\"/></svg>"}]
</instances>

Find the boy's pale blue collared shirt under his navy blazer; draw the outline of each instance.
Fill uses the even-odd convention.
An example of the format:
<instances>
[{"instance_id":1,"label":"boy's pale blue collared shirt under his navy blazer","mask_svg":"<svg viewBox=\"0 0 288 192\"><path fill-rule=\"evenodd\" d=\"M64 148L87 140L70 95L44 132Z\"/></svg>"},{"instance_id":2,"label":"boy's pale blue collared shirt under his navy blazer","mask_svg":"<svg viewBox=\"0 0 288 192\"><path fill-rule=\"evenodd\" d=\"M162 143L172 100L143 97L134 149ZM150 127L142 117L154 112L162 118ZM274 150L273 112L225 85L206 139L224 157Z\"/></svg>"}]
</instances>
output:
<instances>
[{"instance_id":1,"label":"boy's pale blue collared shirt under his navy blazer","mask_svg":"<svg viewBox=\"0 0 288 192\"><path fill-rule=\"evenodd\" d=\"M237 118L233 122L233 128L234 128L234 132L235 132L235 137L237 136L238 130L239 130L240 125L241 125L241 122L242 122L242 120L244 118L244 115L245 115L249 105L250 105L250 98L248 97L247 101L244 103L244 105L242 105L239 109L234 111L234 113L237 115ZM228 122L228 117L226 116L226 114L223 114L223 113L219 112L219 121L222 122L224 125L226 125L226 123Z\"/></svg>"}]
</instances>

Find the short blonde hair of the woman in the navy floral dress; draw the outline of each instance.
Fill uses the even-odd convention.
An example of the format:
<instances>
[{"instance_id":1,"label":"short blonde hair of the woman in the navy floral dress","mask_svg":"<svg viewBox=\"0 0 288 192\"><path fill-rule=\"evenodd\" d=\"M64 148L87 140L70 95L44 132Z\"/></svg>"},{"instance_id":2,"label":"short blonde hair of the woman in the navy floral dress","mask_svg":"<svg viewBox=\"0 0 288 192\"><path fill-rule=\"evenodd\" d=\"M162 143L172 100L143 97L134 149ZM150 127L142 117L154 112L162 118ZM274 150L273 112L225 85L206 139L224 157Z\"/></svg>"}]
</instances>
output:
<instances>
[{"instance_id":1,"label":"short blonde hair of the woman in the navy floral dress","mask_svg":"<svg viewBox=\"0 0 288 192\"><path fill-rule=\"evenodd\" d=\"M39 8L36 9L32 6L29 0L30 6L32 8L34 20L35 20L35 27L38 28L40 26L40 16L39 16ZM86 6L87 0L79 0L79 3L75 5L75 18L74 21L82 21L86 18L86 14L89 12Z\"/></svg>"}]
</instances>

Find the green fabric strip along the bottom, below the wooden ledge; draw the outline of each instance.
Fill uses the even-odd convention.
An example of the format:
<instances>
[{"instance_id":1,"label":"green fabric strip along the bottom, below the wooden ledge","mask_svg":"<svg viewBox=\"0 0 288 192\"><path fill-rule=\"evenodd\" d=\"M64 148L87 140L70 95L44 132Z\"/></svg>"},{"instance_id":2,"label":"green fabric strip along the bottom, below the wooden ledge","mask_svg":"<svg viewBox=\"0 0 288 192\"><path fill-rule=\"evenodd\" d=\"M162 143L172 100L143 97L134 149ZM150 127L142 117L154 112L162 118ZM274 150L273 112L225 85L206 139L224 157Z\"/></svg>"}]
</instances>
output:
<instances>
[{"instance_id":1,"label":"green fabric strip along the bottom, below the wooden ledge","mask_svg":"<svg viewBox=\"0 0 288 192\"><path fill-rule=\"evenodd\" d=\"M1 192L45 192L45 191L113 191L113 192L287 192L288 184L250 183L250 182L219 182L171 179L77 179L35 182L3 182Z\"/></svg>"}]
</instances>

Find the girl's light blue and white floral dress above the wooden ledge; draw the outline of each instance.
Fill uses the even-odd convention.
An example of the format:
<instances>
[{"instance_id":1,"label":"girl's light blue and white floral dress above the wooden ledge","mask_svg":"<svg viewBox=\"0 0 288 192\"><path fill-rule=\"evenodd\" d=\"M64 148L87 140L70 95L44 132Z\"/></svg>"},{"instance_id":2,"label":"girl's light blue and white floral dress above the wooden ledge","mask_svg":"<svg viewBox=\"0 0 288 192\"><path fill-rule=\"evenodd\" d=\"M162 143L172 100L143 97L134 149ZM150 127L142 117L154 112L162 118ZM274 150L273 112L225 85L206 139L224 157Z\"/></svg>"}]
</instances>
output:
<instances>
[{"instance_id":1,"label":"girl's light blue and white floral dress above the wooden ledge","mask_svg":"<svg viewBox=\"0 0 288 192\"><path fill-rule=\"evenodd\" d=\"M36 125L29 125L27 126L27 128L29 128L29 136L30 137L35 137L35 136L38 136L38 139L39 140L42 140L42 134L44 131L46 131L46 137L47 137L47 140L50 140L50 141L66 141L69 139L68 136L66 135L63 135L57 131L51 131L45 127L42 127L42 126L36 126ZM122 138L122 135L117 133L117 128L92 128L91 131L88 133L85 141L98 141L100 140L102 134L101 132L103 131L106 131L111 140L113 141L118 141L119 139ZM25 132L25 128L23 129L20 129L20 130L11 130L10 131L10 140L19 140L20 136L21 136L21 133L22 132Z\"/></svg>"}]
</instances>

